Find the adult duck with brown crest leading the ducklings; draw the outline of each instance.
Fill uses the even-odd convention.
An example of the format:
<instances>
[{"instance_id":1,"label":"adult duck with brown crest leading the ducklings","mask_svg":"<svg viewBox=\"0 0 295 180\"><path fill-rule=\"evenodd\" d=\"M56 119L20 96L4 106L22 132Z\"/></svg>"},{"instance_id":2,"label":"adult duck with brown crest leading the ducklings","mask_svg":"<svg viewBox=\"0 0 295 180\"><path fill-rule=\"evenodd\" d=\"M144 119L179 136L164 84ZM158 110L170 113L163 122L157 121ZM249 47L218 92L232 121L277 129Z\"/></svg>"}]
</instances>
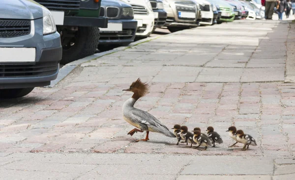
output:
<instances>
[{"instance_id":1,"label":"adult duck with brown crest leading the ducklings","mask_svg":"<svg viewBox=\"0 0 295 180\"><path fill-rule=\"evenodd\" d=\"M158 132L164 134L168 137L176 137L173 132L171 132L165 125L163 125L157 118L153 115L149 114L146 111L135 108L134 104L136 101L148 94L149 85L148 83L144 83L138 78L134 81L128 89L123 89L123 91L133 92L133 96L129 98L122 106L123 118L132 126L138 128L132 129L127 134L131 136L136 132L144 132L147 131L147 135L145 139L140 139L138 141L148 141L148 133Z\"/></svg>"}]
</instances>

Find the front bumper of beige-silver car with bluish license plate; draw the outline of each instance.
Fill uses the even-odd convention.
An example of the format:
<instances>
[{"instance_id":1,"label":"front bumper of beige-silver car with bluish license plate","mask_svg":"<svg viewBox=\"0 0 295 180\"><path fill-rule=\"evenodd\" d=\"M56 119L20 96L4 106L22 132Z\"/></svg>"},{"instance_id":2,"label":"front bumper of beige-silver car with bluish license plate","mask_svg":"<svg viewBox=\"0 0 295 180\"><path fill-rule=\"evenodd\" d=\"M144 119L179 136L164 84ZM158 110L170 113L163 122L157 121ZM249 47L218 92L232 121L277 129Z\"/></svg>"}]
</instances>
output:
<instances>
[{"instance_id":1,"label":"front bumper of beige-silver car with bluish license plate","mask_svg":"<svg viewBox=\"0 0 295 180\"><path fill-rule=\"evenodd\" d=\"M175 4L170 4L172 7L165 7L165 11L167 12L167 20L165 26L191 26L191 27L197 27L199 26L199 23L197 23L197 12L196 18L191 19L182 19L178 18L177 10L175 7Z\"/></svg>"}]
</instances>

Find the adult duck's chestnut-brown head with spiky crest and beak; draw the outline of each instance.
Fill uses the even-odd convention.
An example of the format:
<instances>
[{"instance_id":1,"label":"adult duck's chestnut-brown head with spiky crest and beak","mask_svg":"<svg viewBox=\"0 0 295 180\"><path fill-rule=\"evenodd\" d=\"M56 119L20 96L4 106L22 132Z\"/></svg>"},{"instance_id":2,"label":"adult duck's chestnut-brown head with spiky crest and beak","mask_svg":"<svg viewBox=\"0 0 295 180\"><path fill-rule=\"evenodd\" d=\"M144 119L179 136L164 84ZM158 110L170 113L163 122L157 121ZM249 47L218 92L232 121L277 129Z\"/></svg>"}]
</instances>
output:
<instances>
[{"instance_id":1,"label":"adult duck's chestnut-brown head with spiky crest and beak","mask_svg":"<svg viewBox=\"0 0 295 180\"><path fill-rule=\"evenodd\" d=\"M148 94L149 85L148 82L142 82L140 78L136 81L132 82L129 89L123 89L123 91L130 91L133 92L132 98L138 100L139 98Z\"/></svg>"}]
</instances>

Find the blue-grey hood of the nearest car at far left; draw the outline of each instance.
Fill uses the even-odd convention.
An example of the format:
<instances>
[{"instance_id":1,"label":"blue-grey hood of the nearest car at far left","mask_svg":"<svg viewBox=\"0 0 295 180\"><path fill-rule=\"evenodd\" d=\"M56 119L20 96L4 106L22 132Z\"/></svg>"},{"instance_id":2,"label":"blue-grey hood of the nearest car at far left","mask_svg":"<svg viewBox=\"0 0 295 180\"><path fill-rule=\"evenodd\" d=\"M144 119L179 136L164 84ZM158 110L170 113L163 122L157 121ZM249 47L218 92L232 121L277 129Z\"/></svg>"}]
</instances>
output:
<instances>
[{"instance_id":1,"label":"blue-grey hood of the nearest car at far left","mask_svg":"<svg viewBox=\"0 0 295 180\"><path fill-rule=\"evenodd\" d=\"M42 6L33 0L1 0L2 19L33 20L43 17Z\"/></svg>"}]
</instances>

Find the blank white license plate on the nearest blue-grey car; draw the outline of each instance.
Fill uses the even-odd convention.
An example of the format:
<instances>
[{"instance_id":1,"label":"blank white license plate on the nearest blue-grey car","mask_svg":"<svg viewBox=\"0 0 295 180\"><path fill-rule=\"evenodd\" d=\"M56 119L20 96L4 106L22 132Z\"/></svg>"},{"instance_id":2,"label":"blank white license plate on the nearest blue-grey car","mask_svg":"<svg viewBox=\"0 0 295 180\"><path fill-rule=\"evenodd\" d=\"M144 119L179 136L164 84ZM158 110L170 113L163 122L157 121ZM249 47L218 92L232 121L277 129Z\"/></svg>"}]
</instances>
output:
<instances>
[{"instance_id":1,"label":"blank white license plate on the nearest blue-grey car","mask_svg":"<svg viewBox=\"0 0 295 180\"><path fill-rule=\"evenodd\" d=\"M35 62L35 48L0 48L0 62Z\"/></svg>"}]
</instances>

